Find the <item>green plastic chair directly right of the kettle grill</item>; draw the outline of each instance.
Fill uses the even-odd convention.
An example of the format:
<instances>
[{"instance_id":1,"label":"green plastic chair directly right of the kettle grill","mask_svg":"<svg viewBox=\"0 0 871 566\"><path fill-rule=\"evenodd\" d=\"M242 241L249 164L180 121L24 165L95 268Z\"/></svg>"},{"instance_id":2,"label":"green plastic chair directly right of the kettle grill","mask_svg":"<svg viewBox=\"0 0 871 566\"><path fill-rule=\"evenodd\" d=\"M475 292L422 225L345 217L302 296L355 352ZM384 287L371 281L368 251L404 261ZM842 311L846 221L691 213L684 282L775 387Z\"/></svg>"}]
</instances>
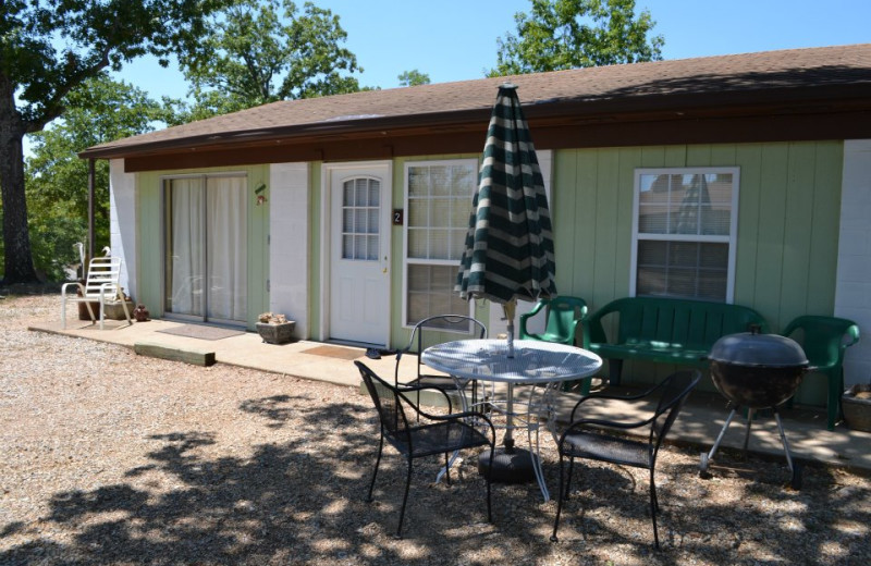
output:
<instances>
[{"instance_id":1,"label":"green plastic chair directly right of the kettle grill","mask_svg":"<svg viewBox=\"0 0 871 566\"><path fill-rule=\"evenodd\" d=\"M844 391L844 353L859 342L859 325L847 319L806 315L787 324L783 335L798 342L813 372L829 380L829 430L834 430Z\"/></svg>"}]
</instances>

